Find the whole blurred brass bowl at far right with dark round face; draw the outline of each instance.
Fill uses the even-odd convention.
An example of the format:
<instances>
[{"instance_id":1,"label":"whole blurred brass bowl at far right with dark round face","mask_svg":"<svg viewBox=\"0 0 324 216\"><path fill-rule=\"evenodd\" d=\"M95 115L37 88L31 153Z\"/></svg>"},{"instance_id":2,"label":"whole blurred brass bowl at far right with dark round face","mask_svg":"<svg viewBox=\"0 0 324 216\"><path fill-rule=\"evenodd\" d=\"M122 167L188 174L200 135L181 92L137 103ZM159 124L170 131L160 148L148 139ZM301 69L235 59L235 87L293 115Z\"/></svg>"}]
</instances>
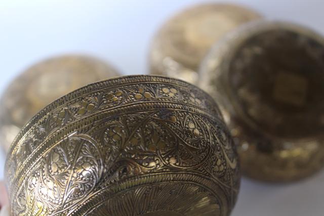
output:
<instances>
[{"instance_id":1,"label":"whole blurred brass bowl at far right with dark round face","mask_svg":"<svg viewBox=\"0 0 324 216\"><path fill-rule=\"evenodd\" d=\"M324 39L260 21L232 33L201 66L199 85L220 105L252 178L288 182L324 164Z\"/></svg>"}]
</instances>

